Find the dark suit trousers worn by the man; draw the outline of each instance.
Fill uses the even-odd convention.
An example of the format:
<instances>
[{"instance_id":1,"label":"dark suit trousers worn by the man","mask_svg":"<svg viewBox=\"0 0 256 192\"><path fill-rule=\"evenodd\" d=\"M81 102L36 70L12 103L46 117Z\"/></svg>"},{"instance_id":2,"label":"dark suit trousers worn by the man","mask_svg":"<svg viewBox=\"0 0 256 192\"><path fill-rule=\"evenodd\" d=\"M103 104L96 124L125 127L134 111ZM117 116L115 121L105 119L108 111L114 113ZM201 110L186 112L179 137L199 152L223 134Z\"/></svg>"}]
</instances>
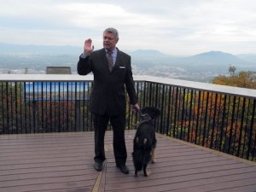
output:
<instances>
[{"instance_id":1,"label":"dark suit trousers worn by the man","mask_svg":"<svg viewBox=\"0 0 256 192\"><path fill-rule=\"evenodd\" d=\"M116 166L125 165L127 152L125 147L125 114L118 116L109 116L108 114L93 114L93 123L95 129L95 157L96 162L106 160L104 149L104 137L108 128L108 122L113 128L113 153Z\"/></svg>"}]
</instances>

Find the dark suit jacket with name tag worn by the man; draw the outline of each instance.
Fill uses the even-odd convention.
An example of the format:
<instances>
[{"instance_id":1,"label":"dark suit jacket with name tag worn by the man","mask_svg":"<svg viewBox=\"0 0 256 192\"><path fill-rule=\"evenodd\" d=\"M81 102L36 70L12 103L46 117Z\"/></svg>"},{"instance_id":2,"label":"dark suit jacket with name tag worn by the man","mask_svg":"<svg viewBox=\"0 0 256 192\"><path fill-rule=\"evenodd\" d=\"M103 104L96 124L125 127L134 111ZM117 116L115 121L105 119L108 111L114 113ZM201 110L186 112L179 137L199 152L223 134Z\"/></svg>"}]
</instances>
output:
<instances>
[{"instance_id":1,"label":"dark suit jacket with name tag worn by the man","mask_svg":"<svg viewBox=\"0 0 256 192\"><path fill-rule=\"evenodd\" d=\"M131 72L131 56L118 49L112 71L108 68L105 49L96 50L86 58L79 57L79 75L94 74L93 90L90 96L90 112L119 115L125 113L125 88L131 104L137 103Z\"/></svg>"}]
</instances>

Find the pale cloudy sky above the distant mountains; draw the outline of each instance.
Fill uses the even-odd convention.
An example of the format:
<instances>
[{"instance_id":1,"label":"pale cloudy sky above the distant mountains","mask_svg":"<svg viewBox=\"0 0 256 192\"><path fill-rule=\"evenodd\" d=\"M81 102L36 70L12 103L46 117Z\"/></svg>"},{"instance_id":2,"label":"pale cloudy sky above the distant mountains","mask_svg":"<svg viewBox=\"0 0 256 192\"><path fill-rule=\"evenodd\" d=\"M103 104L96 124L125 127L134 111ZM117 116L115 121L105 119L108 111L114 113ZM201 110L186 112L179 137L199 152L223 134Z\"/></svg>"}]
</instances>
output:
<instances>
[{"instance_id":1,"label":"pale cloudy sky above the distant mountains","mask_svg":"<svg viewBox=\"0 0 256 192\"><path fill-rule=\"evenodd\" d=\"M256 54L255 0L0 0L0 43L81 46L119 31L121 50Z\"/></svg>"}]
</instances>

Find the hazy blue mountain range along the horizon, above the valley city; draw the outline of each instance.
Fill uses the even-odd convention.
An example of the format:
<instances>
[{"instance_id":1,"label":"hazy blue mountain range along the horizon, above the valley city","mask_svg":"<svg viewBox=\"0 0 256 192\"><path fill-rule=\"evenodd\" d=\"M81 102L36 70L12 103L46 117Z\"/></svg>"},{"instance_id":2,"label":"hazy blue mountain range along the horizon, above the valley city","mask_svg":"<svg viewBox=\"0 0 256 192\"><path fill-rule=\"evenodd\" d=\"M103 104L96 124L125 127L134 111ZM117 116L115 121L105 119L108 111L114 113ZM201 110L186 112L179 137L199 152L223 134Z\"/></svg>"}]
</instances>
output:
<instances>
[{"instance_id":1,"label":"hazy blue mountain range along the horizon, above the valley city","mask_svg":"<svg viewBox=\"0 0 256 192\"><path fill-rule=\"evenodd\" d=\"M34 44L3 44L0 43L0 54L42 54L42 55L80 55L83 47L79 46L56 46L56 45L34 45ZM256 63L255 54L231 55L222 51L209 51L198 55L177 57L166 55L155 49L137 49L128 51L136 61L152 61L154 64L177 63L196 65L253 65Z\"/></svg>"}]
</instances>

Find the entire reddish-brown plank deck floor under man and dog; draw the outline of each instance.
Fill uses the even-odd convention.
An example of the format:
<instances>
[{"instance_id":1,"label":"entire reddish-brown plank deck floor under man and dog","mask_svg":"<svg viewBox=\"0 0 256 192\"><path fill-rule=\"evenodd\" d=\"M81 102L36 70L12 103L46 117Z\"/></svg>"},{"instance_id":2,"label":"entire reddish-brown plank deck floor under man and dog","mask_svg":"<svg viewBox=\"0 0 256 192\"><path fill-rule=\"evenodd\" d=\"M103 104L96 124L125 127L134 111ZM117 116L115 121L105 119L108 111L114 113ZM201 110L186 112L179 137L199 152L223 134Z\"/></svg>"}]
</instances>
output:
<instances>
[{"instance_id":1,"label":"entire reddish-brown plank deck floor under man and dog","mask_svg":"<svg viewBox=\"0 0 256 192\"><path fill-rule=\"evenodd\" d=\"M134 131L126 131L125 175L115 167L112 131L106 135L108 161L93 168L93 132L0 136L1 192L256 191L256 163L157 135L157 163L149 177L133 177Z\"/></svg>"}]
</instances>

